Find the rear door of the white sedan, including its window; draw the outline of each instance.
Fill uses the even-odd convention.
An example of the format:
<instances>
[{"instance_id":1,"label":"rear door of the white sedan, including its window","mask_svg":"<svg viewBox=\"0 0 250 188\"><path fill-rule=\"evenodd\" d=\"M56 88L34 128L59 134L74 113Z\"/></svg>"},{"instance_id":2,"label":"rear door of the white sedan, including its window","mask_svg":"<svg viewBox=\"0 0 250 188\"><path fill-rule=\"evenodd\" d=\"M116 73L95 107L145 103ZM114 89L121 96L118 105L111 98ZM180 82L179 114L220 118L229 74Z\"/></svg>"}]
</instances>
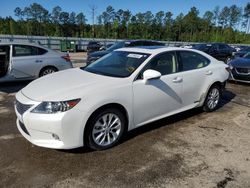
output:
<instances>
[{"instance_id":1,"label":"rear door of the white sedan, including its window","mask_svg":"<svg viewBox=\"0 0 250 188\"><path fill-rule=\"evenodd\" d=\"M196 106L205 93L203 88L209 87L209 79L213 74L210 60L192 51L178 51L178 60L183 78L183 108Z\"/></svg>"}]
</instances>

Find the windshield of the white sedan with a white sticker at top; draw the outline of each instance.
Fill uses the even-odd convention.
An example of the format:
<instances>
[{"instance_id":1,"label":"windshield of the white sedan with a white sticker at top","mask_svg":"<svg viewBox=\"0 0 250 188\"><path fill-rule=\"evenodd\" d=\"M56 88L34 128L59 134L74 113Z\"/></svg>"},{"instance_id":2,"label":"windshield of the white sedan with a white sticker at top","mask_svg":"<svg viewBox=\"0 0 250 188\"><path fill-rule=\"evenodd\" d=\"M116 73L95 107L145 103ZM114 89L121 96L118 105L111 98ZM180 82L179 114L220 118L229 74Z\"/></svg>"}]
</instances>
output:
<instances>
[{"instance_id":1,"label":"windshield of the white sedan with a white sticker at top","mask_svg":"<svg viewBox=\"0 0 250 188\"><path fill-rule=\"evenodd\" d=\"M90 64L85 71L112 77L130 76L150 54L114 51L94 63Z\"/></svg>"}]
</instances>

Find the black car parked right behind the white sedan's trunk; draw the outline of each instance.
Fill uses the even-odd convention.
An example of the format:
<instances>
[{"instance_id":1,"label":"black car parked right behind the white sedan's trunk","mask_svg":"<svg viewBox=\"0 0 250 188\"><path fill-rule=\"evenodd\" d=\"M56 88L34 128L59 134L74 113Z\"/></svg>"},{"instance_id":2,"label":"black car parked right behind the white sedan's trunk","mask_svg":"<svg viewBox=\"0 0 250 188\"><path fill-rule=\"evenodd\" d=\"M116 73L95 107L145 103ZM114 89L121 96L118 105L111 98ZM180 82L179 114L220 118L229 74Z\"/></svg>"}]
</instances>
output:
<instances>
[{"instance_id":1,"label":"black car parked right behind the white sedan's trunk","mask_svg":"<svg viewBox=\"0 0 250 188\"><path fill-rule=\"evenodd\" d=\"M196 44L193 49L203 51L225 63L232 59L232 54L236 51L224 43Z\"/></svg>"}]
</instances>

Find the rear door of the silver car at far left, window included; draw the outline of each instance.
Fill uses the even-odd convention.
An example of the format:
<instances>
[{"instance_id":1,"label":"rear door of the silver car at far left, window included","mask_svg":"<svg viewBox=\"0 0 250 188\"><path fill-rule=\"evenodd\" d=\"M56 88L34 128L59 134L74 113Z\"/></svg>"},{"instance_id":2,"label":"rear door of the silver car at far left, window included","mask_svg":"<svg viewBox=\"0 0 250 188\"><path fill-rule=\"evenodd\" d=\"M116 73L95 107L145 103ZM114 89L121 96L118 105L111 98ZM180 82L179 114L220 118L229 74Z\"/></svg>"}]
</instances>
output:
<instances>
[{"instance_id":1,"label":"rear door of the silver car at far left, window included","mask_svg":"<svg viewBox=\"0 0 250 188\"><path fill-rule=\"evenodd\" d=\"M46 50L29 45L13 45L12 71L15 78L35 77L43 63L42 54Z\"/></svg>"}]
</instances>

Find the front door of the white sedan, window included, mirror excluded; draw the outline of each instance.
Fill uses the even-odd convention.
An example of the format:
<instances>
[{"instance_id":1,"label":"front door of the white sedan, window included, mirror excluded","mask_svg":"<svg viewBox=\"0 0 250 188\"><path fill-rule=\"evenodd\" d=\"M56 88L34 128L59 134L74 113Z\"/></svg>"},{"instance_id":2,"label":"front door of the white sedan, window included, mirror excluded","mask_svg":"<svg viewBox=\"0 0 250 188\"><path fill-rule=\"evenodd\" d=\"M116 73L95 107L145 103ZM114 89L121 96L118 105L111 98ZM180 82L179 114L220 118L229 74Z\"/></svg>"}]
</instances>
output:
<instances>
[{"instance_id":1,"label":"front door of the white sedan, window included, mirror excluded","mask_svg":"<svg viewBox=\"0 0 250 188\"><path fill-rule=\"evenodd\" d=\"M162 76L145 82L143 72L159 71ZM141 71L133 82L134 123L140 126L161 118L181 107L182 77L178 73L175 52L157 55Z\"/></svg>"}]
</instances>

